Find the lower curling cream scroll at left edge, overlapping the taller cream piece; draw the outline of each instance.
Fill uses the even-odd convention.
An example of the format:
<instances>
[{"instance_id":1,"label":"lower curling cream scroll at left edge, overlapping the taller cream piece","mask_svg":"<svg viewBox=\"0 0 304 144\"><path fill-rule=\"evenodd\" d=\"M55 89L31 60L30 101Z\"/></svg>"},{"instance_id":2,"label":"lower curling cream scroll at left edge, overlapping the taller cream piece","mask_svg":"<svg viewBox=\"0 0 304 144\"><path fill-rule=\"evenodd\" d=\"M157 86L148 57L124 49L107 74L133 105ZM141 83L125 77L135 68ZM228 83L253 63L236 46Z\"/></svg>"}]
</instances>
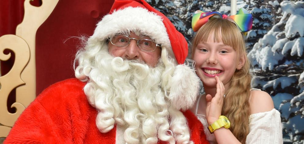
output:
<instances>
[{"instance_id":1,"label":"lower curling cream scroll at left edge, overlapping the taller cream piece","mask_svg":"<svg viewBox=\"0 0 304 144\"><path fill-rule=\"evenodd\" d=\"M17 120L18 116L25 109L21 103L13 103L12 107L16 108L16 113L9 113L6 107L7 99L9 93L16 87L25 84L22 81L20 74L23 68L29 61L30 52L29 46L26 41L16 35L7 34L0 37L0 60L6 61L11 57L11 53L4 54L3 51L5 49L10 49L15 53L15 62L11 70L4 76L0 77L0 124L2 124L2 128L8 130L9 127L12 127L14 121ZM2 132L4 132L2 130ZM7 131L8 132L8 131ZM0 133L1 134L1 133ZM0 137L6 136L7 133L0 135Z\"/></svg>"}]
</instances>

